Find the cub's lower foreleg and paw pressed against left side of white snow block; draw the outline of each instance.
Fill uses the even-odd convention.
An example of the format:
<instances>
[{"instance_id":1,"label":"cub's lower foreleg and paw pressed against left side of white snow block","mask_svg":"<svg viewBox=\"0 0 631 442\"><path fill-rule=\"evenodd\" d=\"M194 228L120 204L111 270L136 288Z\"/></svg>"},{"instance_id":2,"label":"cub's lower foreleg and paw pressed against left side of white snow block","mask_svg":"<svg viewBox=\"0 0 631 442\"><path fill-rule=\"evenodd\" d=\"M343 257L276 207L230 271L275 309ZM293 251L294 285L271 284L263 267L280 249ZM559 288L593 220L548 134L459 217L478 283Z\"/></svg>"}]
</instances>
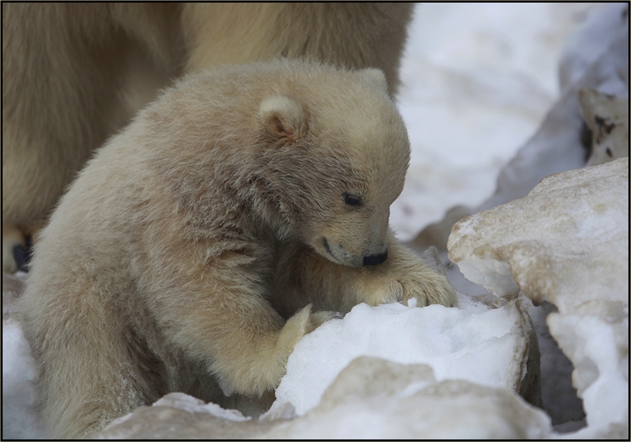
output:
<instances>
[{"instance_id":1,"label":"cub's lower foreleg and paw pressed against left side of white snow block","mask_svg":"<svg viewBox=\"0 0 631 442\"><path fill-rule=\"evenodd\" d=\"M189 274L194 277L186 275L154 275L151 317L165 340L205 364L232 392L260 396L278 387L297 341L333 317L312 313L307 305L283 324L259 284L259 273L245 266L227 270L218 262Z\"/></svg>"}]
</instances>

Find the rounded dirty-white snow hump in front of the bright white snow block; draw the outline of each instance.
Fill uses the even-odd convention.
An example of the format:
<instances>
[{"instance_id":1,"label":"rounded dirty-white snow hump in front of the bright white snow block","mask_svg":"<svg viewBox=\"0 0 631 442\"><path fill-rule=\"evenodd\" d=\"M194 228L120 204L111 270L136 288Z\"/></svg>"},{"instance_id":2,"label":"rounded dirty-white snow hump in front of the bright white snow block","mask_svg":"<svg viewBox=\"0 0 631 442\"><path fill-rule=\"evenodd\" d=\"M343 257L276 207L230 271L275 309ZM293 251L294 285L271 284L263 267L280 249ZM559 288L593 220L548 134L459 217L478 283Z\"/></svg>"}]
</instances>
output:
<instances>
[{"instance_id":1,"label":"rounded dirty-white snow hump in front of the bright white snow block","mask_svg":"<svg viewBox=\"0 0 631 442\"><path fill-rule=\"evenodd\" d=\"M550 418L506 389L436 382L423 364L360 357L310 413L261 438L545 438Z\"/></svg>"}]
</instances>

